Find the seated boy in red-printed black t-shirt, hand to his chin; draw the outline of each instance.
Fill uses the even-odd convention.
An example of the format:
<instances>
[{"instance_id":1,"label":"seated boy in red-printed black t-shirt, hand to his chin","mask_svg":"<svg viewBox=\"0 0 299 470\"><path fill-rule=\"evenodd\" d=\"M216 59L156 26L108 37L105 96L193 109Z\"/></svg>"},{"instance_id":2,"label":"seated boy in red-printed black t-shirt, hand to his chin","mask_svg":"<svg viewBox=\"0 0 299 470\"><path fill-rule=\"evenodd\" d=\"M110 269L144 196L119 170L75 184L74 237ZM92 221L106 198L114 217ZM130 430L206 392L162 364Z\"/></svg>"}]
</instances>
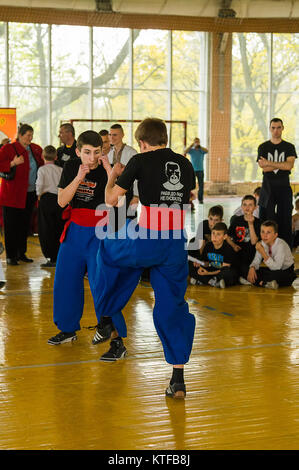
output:
<instances>
[{"instance_id":1,"label":"seated boy in red-printed black t-shirt, hand to his chin","mask_svg":"<svg viewBox=\"0 0 299 470\"><path fill-rule=\"evenodd\" d=\"M231 238L228 238L228 242L238 253L239 281L241 284L249 284L247 275L255 255L255 244L259 240L261 222L253 215L256 209L254 196L244 196L241 207L244 215L232 217L228 229Z\"/></svg>"}]
</instances>

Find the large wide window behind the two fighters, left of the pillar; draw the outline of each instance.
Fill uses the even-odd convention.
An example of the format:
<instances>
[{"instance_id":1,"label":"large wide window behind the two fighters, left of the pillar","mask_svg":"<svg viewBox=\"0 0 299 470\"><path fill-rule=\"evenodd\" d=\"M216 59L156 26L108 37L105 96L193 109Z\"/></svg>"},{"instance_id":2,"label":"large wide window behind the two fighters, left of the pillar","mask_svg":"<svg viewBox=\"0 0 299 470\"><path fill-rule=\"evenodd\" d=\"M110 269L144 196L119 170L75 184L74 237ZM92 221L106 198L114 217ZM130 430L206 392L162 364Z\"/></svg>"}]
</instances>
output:
<instances>
[{"instance_id":1,"label":"large wide window behind the two fighters, left of the pillar","mask_svg":"<svg viewBox=\"0 0 299 470\"><path fill-rule=\"evenodd\" d=\"M1 105L16 107L42 146L58 145L61 121L147 116L187 120L187 140L206 141L206 33L0 22L0 53ZM136 145L136 124L123 126ZM183 126L169 131L182 152Z\"/></svg>"}]
</instances>

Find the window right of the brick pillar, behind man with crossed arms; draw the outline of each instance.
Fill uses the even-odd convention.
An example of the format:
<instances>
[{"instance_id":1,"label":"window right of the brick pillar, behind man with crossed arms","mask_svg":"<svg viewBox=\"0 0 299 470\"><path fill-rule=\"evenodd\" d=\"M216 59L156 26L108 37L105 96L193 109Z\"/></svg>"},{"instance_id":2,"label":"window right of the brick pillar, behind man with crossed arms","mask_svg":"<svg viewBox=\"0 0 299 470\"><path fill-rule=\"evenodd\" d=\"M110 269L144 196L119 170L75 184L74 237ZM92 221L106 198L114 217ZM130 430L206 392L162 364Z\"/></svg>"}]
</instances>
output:
<instances>
[{"instance_id":1,"label":"window right of the brick pillar, behind man with crossed arms","mask_svg":"<svg viewBox=\"0 0 299 470\"><path fill-rule=\"evenodd\" d=\"M283 120L283 138L299 151L299 34L233 36L231 180L259 181L257 147L270 138L269 122ZM298 165L291 178L299 177Z\"/></svg>"}]
</instances>

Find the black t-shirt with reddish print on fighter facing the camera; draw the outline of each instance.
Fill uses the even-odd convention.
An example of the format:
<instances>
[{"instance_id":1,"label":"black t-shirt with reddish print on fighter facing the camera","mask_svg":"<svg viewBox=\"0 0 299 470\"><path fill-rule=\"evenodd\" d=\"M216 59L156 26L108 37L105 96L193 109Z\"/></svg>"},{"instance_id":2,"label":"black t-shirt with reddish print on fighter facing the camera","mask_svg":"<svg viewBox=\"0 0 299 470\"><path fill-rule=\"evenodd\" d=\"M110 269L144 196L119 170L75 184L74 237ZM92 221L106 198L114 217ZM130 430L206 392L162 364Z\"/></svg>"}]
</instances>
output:
<instances>
[{"instance_id":1,"label":"black t-shirt with reddish print on fighter facing the camera","mask_svg":"<svg viewBox=\"0 0 299 470\"><path fill-rule=\"evenodd\" d=\"M77 176L81 159L69 160L64 165L58 188L66 188ZM102 165L91 170L79 184L78 189L70 202L74 209L96 209L99 204L105 203L105 187L107 173Z\"/></svg>"}]
</instances>

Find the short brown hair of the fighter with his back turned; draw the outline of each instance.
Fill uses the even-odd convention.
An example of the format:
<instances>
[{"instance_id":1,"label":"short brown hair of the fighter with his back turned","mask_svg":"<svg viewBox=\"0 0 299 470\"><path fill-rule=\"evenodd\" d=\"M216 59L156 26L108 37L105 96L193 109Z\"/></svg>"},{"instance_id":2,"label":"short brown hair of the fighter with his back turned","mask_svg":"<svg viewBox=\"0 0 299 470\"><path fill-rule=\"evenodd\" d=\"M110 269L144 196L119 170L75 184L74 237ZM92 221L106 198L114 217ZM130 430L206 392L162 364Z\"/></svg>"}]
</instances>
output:
<instances>
[{"instance_id":1,"label":"short brown hair of the fighter with his back turned","mask_svg":"<svg viewBox=\"0 0 299 470\"><path fill-rule=\"evenodd\" d=\"M135 131L135 139L137 142L142 140L152 147L167 145L168 136L165 122L158 118L144 119Z\"/></svg>"}]
</instances>

